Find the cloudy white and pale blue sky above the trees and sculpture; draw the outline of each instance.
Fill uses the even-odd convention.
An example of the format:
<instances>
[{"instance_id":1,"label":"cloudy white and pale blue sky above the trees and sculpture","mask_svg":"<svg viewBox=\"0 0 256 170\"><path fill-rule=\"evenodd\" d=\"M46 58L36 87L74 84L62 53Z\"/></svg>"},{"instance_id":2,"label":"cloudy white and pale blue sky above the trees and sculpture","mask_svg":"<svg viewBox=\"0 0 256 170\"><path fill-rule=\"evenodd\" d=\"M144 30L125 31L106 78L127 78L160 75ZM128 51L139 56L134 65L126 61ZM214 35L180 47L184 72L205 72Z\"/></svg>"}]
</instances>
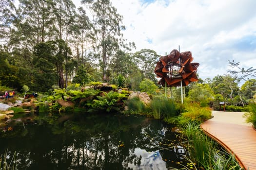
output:
<instances>
[{"instance_id":1,"label":"cloudy white and pale blue sky above the trees and sculpture","mask_svg":"<svg viewBox=\"0 0 256 170\"><path fill-rule=\"evenodd\" d=\"M80 0L73 0L77 7ZM205 79L227 74L228 60L256 68L256 0L111 0L124 38L159 55L191 51Z\"/></svg>"}]
</instances>

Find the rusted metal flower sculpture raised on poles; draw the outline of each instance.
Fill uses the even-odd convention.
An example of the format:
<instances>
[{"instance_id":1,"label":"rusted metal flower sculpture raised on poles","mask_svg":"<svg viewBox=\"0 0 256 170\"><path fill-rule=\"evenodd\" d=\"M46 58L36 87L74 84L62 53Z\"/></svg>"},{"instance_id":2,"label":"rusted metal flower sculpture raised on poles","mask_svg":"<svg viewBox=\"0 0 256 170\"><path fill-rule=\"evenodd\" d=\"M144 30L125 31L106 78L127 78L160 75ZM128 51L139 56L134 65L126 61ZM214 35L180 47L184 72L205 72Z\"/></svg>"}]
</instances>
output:
<instances>
[{"instance_id":1,"label":"rusted metal flower sculpture raised on poles","mask_svg":"<svg viewBox=\"0 0 256 170\"><path fill-rule=\"evenodd\" d=\"M179 52L173 50L169 55L160 57L155 68L155 73L159 78L160 85L182 86L188 85L190 82L197 82L197 68L199 63L191 63L193 61L190 51Z\"/></svg>"}]
</instances>

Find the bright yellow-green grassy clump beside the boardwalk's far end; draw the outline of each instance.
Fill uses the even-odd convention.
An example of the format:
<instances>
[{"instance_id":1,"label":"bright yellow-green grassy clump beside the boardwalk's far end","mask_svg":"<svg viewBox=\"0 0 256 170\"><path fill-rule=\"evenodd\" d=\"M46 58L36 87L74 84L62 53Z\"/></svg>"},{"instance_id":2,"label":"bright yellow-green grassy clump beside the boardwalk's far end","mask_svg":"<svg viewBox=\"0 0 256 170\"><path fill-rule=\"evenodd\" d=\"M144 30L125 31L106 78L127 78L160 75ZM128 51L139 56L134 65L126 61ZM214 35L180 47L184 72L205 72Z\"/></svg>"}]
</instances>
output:
<instances>
[{"instance_id":1,"label":"bright yellow-green grassy clump beside the boardwalk's far end","mask_svg":"<svg viewBox=\"0 0 256 170\"><path fill-rule=\"evenodd\" d=\"M190 103L185 105L185 112L179 117L180 124L188 122L202 123L207 119L211 119L212 111L209 107L201 107L198 103Z\"/></svg>"}]
</instances>

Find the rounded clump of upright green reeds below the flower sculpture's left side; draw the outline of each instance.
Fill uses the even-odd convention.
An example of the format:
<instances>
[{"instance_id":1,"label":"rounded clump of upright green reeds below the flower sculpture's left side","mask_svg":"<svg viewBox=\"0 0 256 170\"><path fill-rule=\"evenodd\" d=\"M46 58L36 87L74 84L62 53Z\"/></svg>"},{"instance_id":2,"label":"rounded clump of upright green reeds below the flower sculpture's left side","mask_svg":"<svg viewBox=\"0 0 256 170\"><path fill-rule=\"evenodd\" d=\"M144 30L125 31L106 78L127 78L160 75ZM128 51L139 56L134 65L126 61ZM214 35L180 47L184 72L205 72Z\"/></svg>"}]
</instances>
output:
<instances>
[{"instance_id":1,"label":"rounded clump of upright green reeds below the flower sculpture's left side","mask_svg":"<svg viewBox=\"0 0 256 170\"><path fill-rule=\"evenodd\" d=\"M154 97L150 103L150 108L154 118L156 119L169 119L177 116L177 109L172 99L165 97Z\"/></svg>"}]
</instances>

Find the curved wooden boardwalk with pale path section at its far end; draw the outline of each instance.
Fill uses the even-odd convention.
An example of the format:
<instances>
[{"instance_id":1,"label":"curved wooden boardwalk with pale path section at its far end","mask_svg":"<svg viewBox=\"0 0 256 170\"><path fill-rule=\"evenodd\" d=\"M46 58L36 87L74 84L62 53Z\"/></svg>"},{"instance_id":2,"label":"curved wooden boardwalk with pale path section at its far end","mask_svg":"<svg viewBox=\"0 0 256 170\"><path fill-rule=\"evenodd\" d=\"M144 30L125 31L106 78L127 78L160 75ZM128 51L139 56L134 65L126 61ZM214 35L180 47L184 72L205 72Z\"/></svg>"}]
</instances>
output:
<instances>
[{"instance_id":1,"label":"curved wooden boardwalk with pale path section at its far end","mask_svg":"<svg viewBox=\"0 0 256 170\"><path fill-rule=\"evenodd\" d=\"M256 170L256 131L243 122L241 113L215 112L213 115L213 119L201 124L204 132L234 153L245 170Z\"/></svg>"}]
</instances>

